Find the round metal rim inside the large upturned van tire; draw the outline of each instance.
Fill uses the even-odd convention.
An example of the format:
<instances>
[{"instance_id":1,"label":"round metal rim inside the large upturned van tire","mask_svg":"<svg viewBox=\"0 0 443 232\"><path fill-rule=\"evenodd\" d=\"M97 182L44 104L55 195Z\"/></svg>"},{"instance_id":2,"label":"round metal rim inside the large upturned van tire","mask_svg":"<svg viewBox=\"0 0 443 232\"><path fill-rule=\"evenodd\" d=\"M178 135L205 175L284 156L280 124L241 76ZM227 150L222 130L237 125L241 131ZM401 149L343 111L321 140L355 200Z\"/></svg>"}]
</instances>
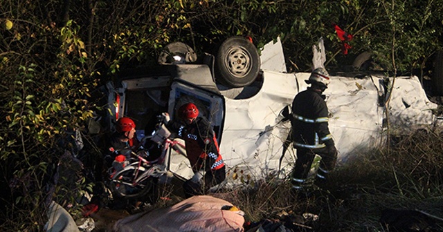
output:
<instances>
[{"instance_id":1,"label":"round metal rim inside the large upturned van tire","mask_svg":"<svg viewBox=\"0 0 443 232\"><path fill-rule=\"evenodd\" d=\"M246 77L251 71L251 54L242 47L230 48L226 55L225 66L233 76Z\"/></svg>"}]
</instances>

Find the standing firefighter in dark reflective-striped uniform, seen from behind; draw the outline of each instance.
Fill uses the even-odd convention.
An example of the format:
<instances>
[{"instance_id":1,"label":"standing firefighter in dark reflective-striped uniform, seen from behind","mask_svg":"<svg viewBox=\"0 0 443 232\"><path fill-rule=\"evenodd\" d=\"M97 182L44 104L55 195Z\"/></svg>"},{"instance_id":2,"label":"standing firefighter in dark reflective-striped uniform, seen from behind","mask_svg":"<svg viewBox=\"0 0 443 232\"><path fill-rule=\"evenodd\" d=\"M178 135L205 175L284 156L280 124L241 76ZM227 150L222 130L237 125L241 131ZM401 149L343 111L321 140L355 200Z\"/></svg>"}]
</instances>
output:
<instances>
[{"instance_id":1,"label":"standing firefighter in dark reflective-striped uniform, seen from behind","mask_svg":"<svg viewBox=\"0 0 443 232\"><path fill-rule=\"evenodd\" d=\"M326 180L327 174L334 169L337 159L334 140L329 133L325 95L322 95L329 84L329 74L325 68L316 68L305 81L311 86L293 99L290 117L292 142L297 150L297 160L291 180L293 190L302 189L306 184L316 154L322 157L316 175L317 180Z\"/></svg>"}]
</instances>

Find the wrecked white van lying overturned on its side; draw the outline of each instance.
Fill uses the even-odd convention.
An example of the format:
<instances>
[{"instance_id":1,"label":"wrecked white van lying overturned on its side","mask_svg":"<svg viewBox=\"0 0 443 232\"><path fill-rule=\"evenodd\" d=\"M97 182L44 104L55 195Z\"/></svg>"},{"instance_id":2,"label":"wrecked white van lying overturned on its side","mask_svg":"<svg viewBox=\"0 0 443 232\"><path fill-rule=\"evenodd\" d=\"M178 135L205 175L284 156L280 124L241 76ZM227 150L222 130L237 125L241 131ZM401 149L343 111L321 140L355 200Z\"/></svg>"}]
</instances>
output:
<instances>
[{"instance_id":1,"label":"wrecked white van lying overturned on its side","mask_svg":"<svg viewBox=\"0 0 443 232\"><path fill-rule=\"evenodd\" d=\"M285 176L291 171L296 151L292 146L284 149L290 123L282 120L281 112L298 92L307 88L309 72L285 72L280 41L265 46L260 58L260 73L246 86L219 84L211 62L132 70L107 85L111 120L132 117L138 136L143 137L152 131L156 115L168 111L174 117L181 104L192 101L213 125L229 170L228 182L247 182L277 173L283 152L280 175ZM237 57L227 55L226 59ZM382 145L387 115L392 128L430 126L435 122L432 110L437 105L426 97L417 77L387 80L371 75L331 77L325 95L338 164ZM386 83L394 84L390 96ZM384 102L388 98L386 114ZM174 152L168 159L168 168L184 179L192 177L186 157Z\"/></svg>"}]
</instances>

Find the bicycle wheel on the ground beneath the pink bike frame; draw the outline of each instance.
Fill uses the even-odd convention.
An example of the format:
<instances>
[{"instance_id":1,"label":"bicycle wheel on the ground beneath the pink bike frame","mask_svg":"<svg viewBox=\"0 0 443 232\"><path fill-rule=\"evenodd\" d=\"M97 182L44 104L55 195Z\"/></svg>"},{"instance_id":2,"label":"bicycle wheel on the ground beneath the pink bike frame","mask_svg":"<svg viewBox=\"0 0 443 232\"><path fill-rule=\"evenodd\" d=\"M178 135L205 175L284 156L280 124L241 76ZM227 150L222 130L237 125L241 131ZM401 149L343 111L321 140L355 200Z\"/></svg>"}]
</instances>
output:
<instances>
[{"instance_id":1,"label":"bicycle wheel on the ground beneath the pink bike frame","mask_svg":"<svg viewBox=\"0 0 443 232\"><path fill-rule=\"evenodd\" d=\"M143 167L127 166L122 171L116 173L110 184L112 194L127 199L146 195L154 188L155 179L154 177L143 175L145 171L146 169ZM134 175L136 175L136 173L138 180L134 182Z\"/></svg>"}]
</instances>

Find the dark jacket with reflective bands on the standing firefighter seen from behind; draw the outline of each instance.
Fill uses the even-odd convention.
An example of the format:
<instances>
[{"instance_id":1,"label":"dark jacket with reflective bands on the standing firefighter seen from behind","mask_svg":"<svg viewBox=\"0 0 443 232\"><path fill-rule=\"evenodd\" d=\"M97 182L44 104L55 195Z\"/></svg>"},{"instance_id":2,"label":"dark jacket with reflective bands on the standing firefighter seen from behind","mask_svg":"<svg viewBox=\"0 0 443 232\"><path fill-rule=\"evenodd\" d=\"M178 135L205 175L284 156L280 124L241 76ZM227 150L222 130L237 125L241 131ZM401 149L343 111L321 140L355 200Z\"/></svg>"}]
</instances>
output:
<instances>
[{"instance_id":1,"label":"dark jacket with reflective bands on the standing firefighter seen from behind","mask_svg":"<svg viewBox=\"0 0 443 232\"><path fill-rule=\"evenodd\" d=\"M325 145L334 145L327 115L324 95L313 88L298 93L292 102L293 146L323 148Z\"/></svg>"}]
</instances>

